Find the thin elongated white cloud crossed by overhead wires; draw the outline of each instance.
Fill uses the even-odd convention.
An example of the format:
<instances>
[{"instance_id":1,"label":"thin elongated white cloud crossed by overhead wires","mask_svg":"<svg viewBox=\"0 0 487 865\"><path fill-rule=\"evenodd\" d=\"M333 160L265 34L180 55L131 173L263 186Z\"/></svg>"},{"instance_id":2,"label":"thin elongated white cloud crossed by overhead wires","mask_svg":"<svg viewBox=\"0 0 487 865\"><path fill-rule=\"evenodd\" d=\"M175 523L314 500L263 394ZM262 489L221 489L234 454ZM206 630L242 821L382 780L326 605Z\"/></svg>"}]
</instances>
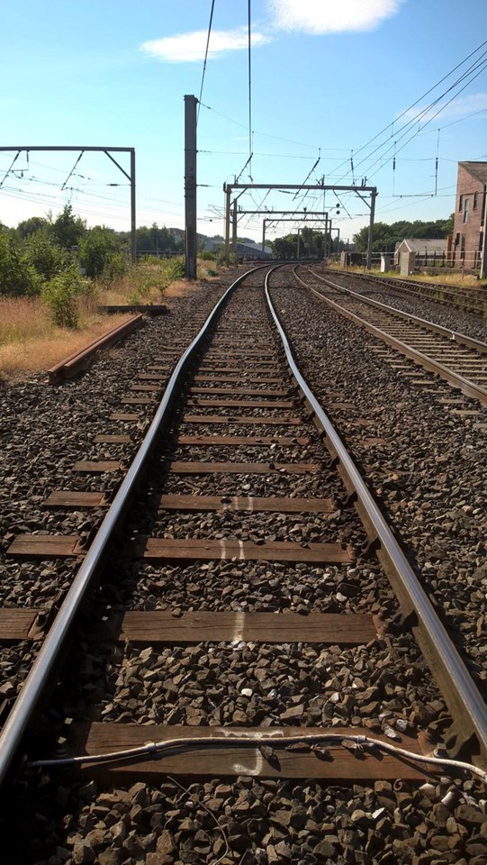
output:
<instances>
[{"instance_id":1,"label":"thin elongated white cloud crossed by overhead wires","mask_svg":"<svg viewBox=\"0 0 487 865\"><path fill-rule=\"evenodd\" d=\"M140 49L151 57L166 60L167 63L194 63L204 59L208 33L195 30L189 33L179 33L176 36L165 36L163 39L153 39L144 42ZM271 41L264 33L252 33L252 45L264 45ZM239 51L248 47L248 31L246 27L237 30L212 31L208 59L214 59L228 51Z\"/></svg>"}]
</instances>

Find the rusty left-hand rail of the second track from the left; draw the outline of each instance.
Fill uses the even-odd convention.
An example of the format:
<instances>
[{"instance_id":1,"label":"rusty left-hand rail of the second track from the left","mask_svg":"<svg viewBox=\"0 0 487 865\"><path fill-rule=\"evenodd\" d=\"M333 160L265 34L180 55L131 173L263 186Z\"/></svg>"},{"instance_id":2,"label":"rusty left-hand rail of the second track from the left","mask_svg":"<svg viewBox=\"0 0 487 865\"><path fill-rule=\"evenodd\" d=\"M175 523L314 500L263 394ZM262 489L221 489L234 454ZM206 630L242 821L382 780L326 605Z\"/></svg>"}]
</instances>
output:
<instances>
[{"instance_id":1,"label":"rusty left-hand rail of the second track from the left","mask_svg":"<svg viewBox=\"0 0 487 865\"><path fill-rule=\"evenodd\" d=\"M346 309L344 306L340 306L336 301L331 300L329 297L326 297L320 293L316 288L309 286L304 280L293 271L294 278L301 282L302 286L307 288L309 291L316 295L320 300L324 303L329 304L333 309L335 309L340 315L344 315L346 318L349 318L350 321L355 322L356 324L360 324L362 327L365 327L369 333L372 333L374 336L378 337L380 340L385 342L387 345L390 345L393 349L397 349L401 354L405 355L410 360L414 360L420 366L428 369L429 372L434 372L440 378L444 378L448 384L453 387L457 387L459 390L464 393L465 396L471 396L473 399L478 400L481 405L487 405L487 390L481 385L476 385L473 381L470 381L468 378L464 378L460 376L457 372L454 372L453 369L449 369L448 367L443 366L443 364L439 363L437 360L433 360L433 358L428 357L427 354L423 354L421 351L417 349L413 349L412 346L408 345L407 342L402 342L398 340L395 336L391 336L390 333L387 333L381 328L376 327L374 324L365 321L364 318L360 318L359 315L350 312L350 310ZM328 280L324 280L328 282ZM334 283L330 283L331 287L338 288L344 294L356 295L356 292L350 291L348 288L342 288L340 286L336 286ZM365 300L364 297L358 295L360 300ZM375 303L375 301L374 301ZM388 307L386 307L388 309ZM394 310L395 312L395 310ZM419 319L419 321L422 321ZM439 326L439 325L435 325ZM451 331L446 331L451 334ZM465 337L468 339L468 337ZM480 343L483 345L483 343Z\"/></svg>"}]
</instances>

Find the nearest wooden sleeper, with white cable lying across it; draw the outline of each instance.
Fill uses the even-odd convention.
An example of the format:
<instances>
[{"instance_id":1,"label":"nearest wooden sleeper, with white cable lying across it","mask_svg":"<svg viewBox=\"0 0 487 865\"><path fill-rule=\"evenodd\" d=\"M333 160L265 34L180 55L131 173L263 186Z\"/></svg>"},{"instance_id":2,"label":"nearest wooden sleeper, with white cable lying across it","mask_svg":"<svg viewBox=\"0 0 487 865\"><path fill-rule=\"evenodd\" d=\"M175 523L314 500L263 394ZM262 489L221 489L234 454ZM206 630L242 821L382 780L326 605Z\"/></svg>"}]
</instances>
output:
<instances>
[{"instance_id":1,"label":"nearest wooden sleeper, with white cable lying across it","mask_svg":"<svg viewBox=\"0 0 487 865\"><path fill-rule=\"evenodd\" d=\"M320 759L320 753L313 751L287 751L275 743L272 751L275 760L272 764L266 760L262 751L249 743L246 748L231 746L231 736L248 735L265 736L269 731L276 737L284 735L312 734L320 735L323 727L210 727L153 724L150 727L141 724L108 724L95 722L86 729L80 726L75 731L77 741L73 742L72 756L83 754L104 754L112 751L142 747L148 742L167 742L175 739L188 739L195 742L186 752L180 752L158 758L133 758L121 760L119 763L86 764L83 774L99 778L103 783L122 784L136 779L146 783L154 783L167 778L167 775L178 775L187 778L235 778L247 775L258 778L319 778L335 783L361 783L373 780L409 780L420 781L425 778L416 763L407 763L389 755L379 758L368 753L358 756L341 746L329 748L329 759ZM330 727L330 733L338 736L346 734L370 735L370 731L354 727ZM211 738L225 739L226 742L216 749L204 749L204 742ZM390 742L385 736L378 734L375 738ZM197 744L200 742L200 748ZM417 740L401 736L398 744L408 751L421 753ZM328 750L328 749L327 749Z\"/></svg>"}]
</instances>

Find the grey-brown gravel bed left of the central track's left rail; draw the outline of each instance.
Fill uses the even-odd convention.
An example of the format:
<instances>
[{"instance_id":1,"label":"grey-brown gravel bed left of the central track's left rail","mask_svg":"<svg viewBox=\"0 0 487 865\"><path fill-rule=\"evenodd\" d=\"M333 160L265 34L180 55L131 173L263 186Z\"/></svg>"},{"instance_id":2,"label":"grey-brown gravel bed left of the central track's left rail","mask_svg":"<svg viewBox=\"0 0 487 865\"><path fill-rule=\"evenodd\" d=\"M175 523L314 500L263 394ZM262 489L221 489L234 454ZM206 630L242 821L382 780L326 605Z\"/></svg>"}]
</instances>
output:
<instances>
[{"instance_id":1,"label":"grey-brown gravel bed left of the central track's left rail","mask_svg":"<svg viewBox=\"0 0 487 865\"><path fill-rule=\"evenodd\" d=\"M131 384L161 350L198 332L224 288L208 285L192 295L167 301L170 313L149 318L144 326L113 349L100 354L81 377L50 386L44 375L18 384L0 383L0 604L57 608L71 584L76 560L14 561L5 556L16 534L78 534L87 539L104 518L105 509L53 511L43 506L55 489L103 490L107 496L122 472L82 475L77 460L119 459L128 465L151 417L150 406L122 404L133 396ZM181 353L176 352L176 357ZM153 396L154 403L156 395ZM133 424L110 421L113 412L139 411ZM131 432L128 445L99 445L95 435ZM0 649L6 684L1 697L14 696L35 655L32 644ZM0 697L0 698L1 698Z\"/></svg>"}]
</instances>

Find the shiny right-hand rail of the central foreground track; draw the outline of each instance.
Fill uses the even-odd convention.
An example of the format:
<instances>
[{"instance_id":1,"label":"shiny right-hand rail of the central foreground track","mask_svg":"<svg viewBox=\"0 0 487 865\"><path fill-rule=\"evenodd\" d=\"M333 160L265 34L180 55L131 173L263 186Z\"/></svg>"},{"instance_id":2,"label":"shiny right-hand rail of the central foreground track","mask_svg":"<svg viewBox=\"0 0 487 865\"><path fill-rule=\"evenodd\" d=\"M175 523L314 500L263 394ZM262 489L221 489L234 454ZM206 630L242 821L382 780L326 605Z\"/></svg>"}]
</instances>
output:
<instances>
[{"instance_id":1,"label":"shiny right-hand rail of the central foreground track","mask_svg":"<svg viewBox=\"0 0 487 865\"><path fill-rule=\"evenodd\" d=\"M406 608L407 614L410 615L411 611L414 614L417 624L413 625L412 631L433 675L437 678L458 734L462 736L464 742L474 739L482 760L487 762L487 706L446 632L445 626L439 620L426 592L420 586L392 529L375 503L355 461L296 365L289 341L269 294L269 277L273 270L268 271L266 275L266 300L293 377L310 405L317 424L329 443L330 450L337 455L340 467L347 478L347 486L355 491L361 510L366 514L365 522L374 540L379 543L379 554L389 566L386 568L386 573L392 588L402 607Z\"/></svg>"}]
</instances>

